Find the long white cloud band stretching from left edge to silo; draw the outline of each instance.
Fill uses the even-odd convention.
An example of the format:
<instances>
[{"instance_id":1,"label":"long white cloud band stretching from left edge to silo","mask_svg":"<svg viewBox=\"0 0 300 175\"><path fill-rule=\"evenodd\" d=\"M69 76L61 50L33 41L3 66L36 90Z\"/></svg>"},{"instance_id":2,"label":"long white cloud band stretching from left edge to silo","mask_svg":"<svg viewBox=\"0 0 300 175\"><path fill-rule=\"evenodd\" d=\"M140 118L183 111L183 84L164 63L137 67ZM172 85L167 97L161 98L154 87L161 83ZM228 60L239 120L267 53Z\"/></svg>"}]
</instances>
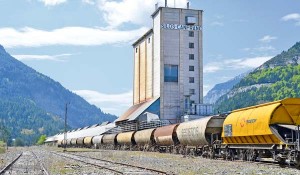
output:
<instances>
[{"instance_id":1,"label":"long white cloud band stretching from left edge to silo","mask_svg":"<svg viewBox=\"0 0 300 175\"><path fill-rule=\"evenodd\" d=\"M0 41L5 47L40 47L51 45L92 46L133 42L148 29L107 30L86 27L64 27L51 31L30 27L0 28Z\"/></svg>"}]
</instances>

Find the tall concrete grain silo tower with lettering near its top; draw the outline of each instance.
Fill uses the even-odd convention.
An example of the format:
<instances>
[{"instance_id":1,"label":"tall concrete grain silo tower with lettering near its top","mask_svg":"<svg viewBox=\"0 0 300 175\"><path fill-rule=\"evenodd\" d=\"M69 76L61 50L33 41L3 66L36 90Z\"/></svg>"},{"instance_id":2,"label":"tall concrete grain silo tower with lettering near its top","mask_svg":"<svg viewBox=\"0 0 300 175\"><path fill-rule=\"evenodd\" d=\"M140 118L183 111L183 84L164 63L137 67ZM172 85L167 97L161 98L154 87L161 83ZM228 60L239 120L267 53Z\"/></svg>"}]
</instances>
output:
<instances>
[{"instance_id":1,"label":"tall concrete grain silo tower with lettering near its top","mask_svg":"<svg viewBox=\"0 0 300 175\"><path fill-rule=\"evenodd\" d=\"M202 105L202 13L189 4L156 7L152 28L132 45L133 106L119 123L155 118L178 123L186 114L200 115L203 107L211 111Z\"/></svg>"}]
</instances>

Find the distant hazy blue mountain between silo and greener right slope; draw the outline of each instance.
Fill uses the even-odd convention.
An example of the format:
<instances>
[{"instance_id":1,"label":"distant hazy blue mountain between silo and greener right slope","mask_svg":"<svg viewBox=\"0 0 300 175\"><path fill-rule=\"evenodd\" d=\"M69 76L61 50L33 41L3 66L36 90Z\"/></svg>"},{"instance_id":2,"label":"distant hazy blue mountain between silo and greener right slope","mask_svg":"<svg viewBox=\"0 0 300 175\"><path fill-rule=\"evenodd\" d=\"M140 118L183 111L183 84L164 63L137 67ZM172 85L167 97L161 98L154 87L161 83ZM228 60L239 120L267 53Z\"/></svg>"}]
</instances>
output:
<instances>
[{"instance_id":1,"label":"distant hazy blue mountain between silo and greener right slope","mask_svg":"<svg viewBox=\"0 0 300 175\"><path fill-rule=\"evenodd\" d=\"M215 104L215 102L224 94L229 92L234 85L236 85L242 78L248 75L249 72L240 74L224 83L216 84L211 90L207 92L204 97L204 103Z\"/></svg>"}]
</instances>

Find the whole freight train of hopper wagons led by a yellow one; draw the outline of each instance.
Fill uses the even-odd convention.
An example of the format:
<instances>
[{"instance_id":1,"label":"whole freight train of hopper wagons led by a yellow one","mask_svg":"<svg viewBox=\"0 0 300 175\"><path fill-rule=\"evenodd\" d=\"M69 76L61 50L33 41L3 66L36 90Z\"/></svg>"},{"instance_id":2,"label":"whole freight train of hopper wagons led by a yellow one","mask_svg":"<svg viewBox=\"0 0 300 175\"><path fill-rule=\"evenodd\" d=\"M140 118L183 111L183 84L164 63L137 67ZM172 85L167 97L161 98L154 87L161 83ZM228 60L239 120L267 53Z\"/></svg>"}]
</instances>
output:
<instances>
[{"instance_id":1,"label":"whole freight train of hopper wagons led by a yellow one","mask_svg":"<svg viewBox=\"0 0 300 175\"><path fill-rule=\"evenodd\" d=\"M188 122L139 131L68 139L67 146L271 159L300 167L300 98L288 98ZM57 142L63 146L64 140Z\"/></svg>"}]
</instances>

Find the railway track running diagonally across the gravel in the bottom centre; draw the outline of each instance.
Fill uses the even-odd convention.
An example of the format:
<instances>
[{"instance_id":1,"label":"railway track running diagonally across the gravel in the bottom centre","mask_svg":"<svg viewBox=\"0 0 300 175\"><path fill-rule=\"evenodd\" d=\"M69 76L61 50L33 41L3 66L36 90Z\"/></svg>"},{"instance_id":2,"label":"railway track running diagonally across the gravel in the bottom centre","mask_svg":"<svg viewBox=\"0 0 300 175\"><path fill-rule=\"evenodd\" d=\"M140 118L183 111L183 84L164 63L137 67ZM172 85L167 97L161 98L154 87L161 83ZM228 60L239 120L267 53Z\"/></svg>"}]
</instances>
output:
<instances>
[{"instance_id":1,"label":"railway track running diagonally across the gravel in the bottom centre","mask_svg":"<svg viewBox=\"0 0 300 175\"><path fill-rule=\"evenodd\" d=\"M140 167L135 165L129 165L120 162L113 162L109 160L98 159L98 158L93 158L93 157L88 157L88 156L83 156L78 154L58 153L58 152L52 152L52 153L88 165L93 165L95 167L99 167L101 169L111 171L115 174L143 174L143 175L144 174L147 175L168 174L167 172L160 171L160 170L155 170L155 169Z\"/></svg>"}]
</instances>

